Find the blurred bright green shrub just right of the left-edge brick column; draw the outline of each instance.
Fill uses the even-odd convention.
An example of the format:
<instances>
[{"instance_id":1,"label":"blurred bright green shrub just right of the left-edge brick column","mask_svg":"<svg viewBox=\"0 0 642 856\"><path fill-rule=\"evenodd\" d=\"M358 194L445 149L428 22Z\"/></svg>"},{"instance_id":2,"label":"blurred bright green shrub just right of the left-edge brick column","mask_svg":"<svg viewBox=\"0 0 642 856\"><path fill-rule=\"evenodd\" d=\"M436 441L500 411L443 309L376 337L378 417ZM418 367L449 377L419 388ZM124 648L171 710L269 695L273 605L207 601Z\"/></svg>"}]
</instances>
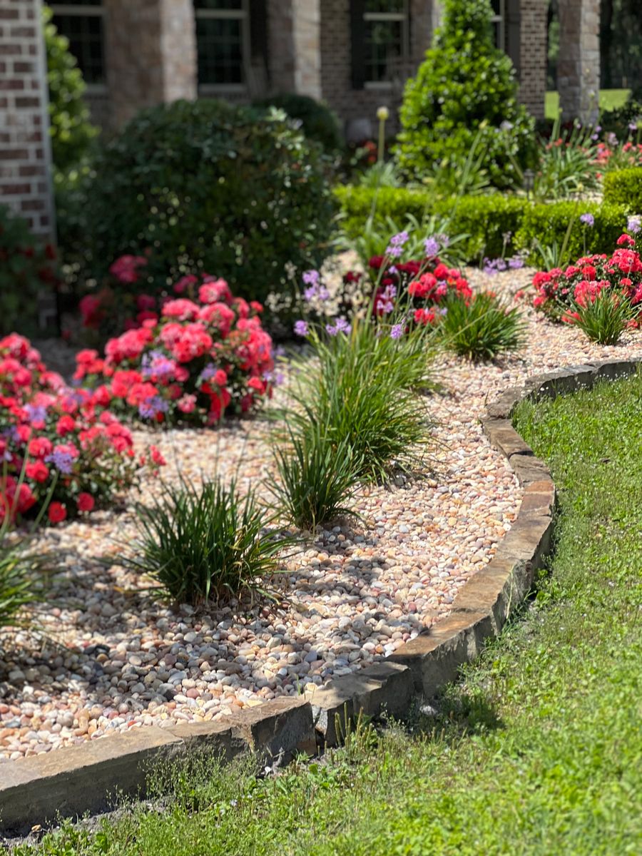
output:
<instances>
[{"instance_id":1,"label":"blurred bright green shrub just right of the left-edge brick column","mask_svg":"<svg viewBox=\"0 0 642 856\"><path fill-rule=\"evenodd\" d=\"M57 169L69 169L86 154L98 134L89 121L89 110L83 95L85 81L69 42L51 22L51 9L43 8L47 82L49 83L49 118L53 162Z\"/></svg>"}]
</instances>

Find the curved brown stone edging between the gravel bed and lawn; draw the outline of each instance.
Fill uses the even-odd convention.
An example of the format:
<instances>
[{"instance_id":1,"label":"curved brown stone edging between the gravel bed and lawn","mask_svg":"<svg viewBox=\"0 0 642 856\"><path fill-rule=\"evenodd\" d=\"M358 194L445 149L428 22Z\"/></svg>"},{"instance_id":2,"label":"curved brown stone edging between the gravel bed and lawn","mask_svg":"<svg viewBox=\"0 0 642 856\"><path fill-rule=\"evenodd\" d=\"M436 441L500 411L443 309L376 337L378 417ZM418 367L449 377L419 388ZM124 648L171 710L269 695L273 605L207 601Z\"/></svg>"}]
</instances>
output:
<instances>
[{"instance_id":1,"label":"curved brown stone edging between the gravel bed and lawn","mask_svg":"<svg viewBox=\"0 0 642 856\"><path fill-rule=\"evenodd\" d=\"M187 751L212 752L225 761L250 751L287 761L295 752L313 754L318 742L336 746L342 736L336 722L349 727L360 712L379 716L385 710L402 719L413 696L435 695L501 631L550 551L556 487L548 467L514 430L514 407L525 398L590 388L598 378L626 377L640 366L642 357L571 366L531 377L487 407L480 419L484 434L508 459L524 496L496 555L462 586L446 618L385 660L297 698L265 702L223 722L137 727L0 764L0 831L21 834L57 817L103 811L116 794L144 793L153 765Z\"/></svg>"}]
</instances>

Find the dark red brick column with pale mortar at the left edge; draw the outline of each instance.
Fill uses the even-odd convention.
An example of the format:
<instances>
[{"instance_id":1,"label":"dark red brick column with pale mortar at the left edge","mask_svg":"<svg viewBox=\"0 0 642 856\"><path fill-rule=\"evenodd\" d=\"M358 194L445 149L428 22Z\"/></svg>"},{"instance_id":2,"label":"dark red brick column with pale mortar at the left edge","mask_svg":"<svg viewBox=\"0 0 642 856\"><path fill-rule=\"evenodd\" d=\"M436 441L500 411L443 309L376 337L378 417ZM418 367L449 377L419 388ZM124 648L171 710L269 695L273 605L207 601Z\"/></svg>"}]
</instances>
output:
<instances>
[{"instance_id":1,"label":"dark red brick column with pale mortar at the left edge","mask_svg":"<svg viewBox=\"0 0 642 856\"><path fill-rule=\"evenodd\" d=\"M40 0L0 0L0 203L51 239L51 144Z\"/></svg>"}]
</instances>

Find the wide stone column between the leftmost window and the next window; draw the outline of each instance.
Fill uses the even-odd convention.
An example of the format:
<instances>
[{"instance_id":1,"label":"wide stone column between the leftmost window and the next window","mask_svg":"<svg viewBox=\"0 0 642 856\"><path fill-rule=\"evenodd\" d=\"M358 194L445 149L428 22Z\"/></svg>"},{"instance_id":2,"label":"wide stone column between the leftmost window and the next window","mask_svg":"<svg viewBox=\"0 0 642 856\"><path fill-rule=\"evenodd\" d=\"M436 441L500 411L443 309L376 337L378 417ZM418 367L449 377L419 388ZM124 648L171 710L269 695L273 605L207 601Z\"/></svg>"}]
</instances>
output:
<instances>
[{"instance_id":1,"label":"wide stone column between the leftmost window and the next window","mask_svg":"<svg viewBox=\"0 0 642 856\"><path fill-rule=\"evenodd\" d=\"M113 124L176 98L196 98L193 0L104 0Z\"/></svg>"}]
</instances>

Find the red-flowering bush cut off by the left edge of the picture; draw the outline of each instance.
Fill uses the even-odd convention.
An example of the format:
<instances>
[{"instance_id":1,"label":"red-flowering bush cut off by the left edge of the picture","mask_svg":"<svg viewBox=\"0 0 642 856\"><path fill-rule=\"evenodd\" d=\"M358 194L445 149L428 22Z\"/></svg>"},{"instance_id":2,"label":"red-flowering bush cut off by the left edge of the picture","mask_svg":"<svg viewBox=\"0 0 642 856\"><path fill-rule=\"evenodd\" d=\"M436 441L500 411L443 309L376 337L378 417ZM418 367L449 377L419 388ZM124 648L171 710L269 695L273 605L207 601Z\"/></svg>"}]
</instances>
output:
<instances>
[{"instance_id":1,"label":"red-flowering bush cut off by the left edge of the picture","mask_svg":"<svg viewBox=\"0 0 642 856\"><path fill-rule=\"evenodd\" d=\"M29 341L0 339L0 523L38 514L47 502L52 523L88 514L134 483L131 433L101 389L71 389L49 372ZM164 461L151 447L149 466Z\"/></svg>"}]
</instances>

